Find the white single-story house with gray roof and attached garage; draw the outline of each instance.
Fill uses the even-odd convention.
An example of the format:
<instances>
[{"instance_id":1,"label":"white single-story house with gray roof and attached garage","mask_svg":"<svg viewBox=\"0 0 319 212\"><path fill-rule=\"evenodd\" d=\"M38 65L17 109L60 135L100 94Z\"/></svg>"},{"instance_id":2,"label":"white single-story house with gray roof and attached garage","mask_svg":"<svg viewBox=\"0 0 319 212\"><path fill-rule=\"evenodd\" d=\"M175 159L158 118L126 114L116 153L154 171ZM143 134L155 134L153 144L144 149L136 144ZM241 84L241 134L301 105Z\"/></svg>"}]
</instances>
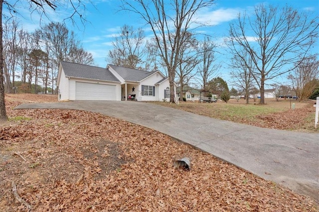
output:
<instances>
[{"instance_id":1,"label":"white single-story house with gray roof and attached garage","mask_svg":"<svg viewBox=\"0 0 319 212\"><path fill-rule=\"evenodd\" d=\"M137 101L169 101L168 78L160 71L61 62L57 86L59 101L121 101L130 99L132 95Z\"/></svg>"}]
</instances>

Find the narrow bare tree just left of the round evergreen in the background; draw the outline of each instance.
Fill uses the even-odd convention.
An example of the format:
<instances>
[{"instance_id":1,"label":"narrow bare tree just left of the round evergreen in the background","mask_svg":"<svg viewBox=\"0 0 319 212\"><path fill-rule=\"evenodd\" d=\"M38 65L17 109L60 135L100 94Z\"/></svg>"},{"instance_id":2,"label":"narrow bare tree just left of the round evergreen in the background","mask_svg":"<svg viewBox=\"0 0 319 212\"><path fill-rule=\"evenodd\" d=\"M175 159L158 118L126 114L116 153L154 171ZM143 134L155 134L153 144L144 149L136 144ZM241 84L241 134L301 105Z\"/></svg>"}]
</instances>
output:
<instances>
[{"instance_id":1,"label":"narrow bare tree just left of the round evergreen in the background","mask_svg":"<svg viewBox=\"0 0 319 212\"><path fill-rule=\"evenodd\" d=\"M216 44L209 37L205 37L197 46L198 60L200 60L197 66L197 78L199 78L198 81L201 83L203 91L209 91L208 83L217 76L220 69L220 64L215 63L216 47Z\"/></svg>"}]
</instances>

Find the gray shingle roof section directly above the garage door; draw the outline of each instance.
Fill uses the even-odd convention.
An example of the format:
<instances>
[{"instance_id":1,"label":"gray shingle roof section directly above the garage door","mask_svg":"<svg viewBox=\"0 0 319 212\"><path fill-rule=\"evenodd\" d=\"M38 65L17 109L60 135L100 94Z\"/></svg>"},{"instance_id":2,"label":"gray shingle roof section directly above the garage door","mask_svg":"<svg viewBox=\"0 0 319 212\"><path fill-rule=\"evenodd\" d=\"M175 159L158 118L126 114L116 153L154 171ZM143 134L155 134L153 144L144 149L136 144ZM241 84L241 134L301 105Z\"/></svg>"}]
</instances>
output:
<instances>
[{"instance_id":1,"label":"gray shingle roof section directly above the garage door","mask_svg":"<svg viewBox=\"0 0 319 212\"><path fill-rule=\"evenodd\" d=\"M120 82L108 69L76 63L61 62L66 77Z\"/></svg>"}]
</instances>

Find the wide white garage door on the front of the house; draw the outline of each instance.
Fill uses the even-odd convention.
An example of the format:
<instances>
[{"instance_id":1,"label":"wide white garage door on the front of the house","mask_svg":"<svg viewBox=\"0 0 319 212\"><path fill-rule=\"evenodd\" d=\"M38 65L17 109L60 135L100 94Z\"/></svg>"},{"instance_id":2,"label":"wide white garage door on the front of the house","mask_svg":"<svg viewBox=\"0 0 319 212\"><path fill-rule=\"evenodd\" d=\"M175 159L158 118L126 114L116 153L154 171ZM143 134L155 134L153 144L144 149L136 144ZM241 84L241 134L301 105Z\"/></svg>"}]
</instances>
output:
<instances>
[{"instance_id":1,"label":"wide white garage door on the front of the house","mask_svg":"<svg viewBox=\"0 0 319 212\"><path fill-rule=\"evenodd\" d=\"M76 100L116 100L116 86L76 82Z\"/></svg>"}]
</instances>

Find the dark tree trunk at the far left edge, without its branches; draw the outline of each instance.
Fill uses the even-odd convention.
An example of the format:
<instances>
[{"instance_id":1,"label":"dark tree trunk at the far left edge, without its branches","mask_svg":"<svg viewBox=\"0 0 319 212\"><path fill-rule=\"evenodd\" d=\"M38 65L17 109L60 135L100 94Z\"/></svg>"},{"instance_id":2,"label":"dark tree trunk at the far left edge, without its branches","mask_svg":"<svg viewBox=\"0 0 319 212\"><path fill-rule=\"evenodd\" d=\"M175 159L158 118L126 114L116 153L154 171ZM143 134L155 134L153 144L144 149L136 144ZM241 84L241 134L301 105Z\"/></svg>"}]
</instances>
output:
<instances>
[{"instance_id":1,"label":"dark tree trunk at the far left edge, without its branches","mask_svg":"<svg viewBox=\"0 0 319 212\"><path fill-rule=\"evenodd\" d=\"M3 76L3 43L2 43L2 3L0 0L0 121L6 121L5 103L4 103L4 76Z\"/></svg>"}]
</instances>

